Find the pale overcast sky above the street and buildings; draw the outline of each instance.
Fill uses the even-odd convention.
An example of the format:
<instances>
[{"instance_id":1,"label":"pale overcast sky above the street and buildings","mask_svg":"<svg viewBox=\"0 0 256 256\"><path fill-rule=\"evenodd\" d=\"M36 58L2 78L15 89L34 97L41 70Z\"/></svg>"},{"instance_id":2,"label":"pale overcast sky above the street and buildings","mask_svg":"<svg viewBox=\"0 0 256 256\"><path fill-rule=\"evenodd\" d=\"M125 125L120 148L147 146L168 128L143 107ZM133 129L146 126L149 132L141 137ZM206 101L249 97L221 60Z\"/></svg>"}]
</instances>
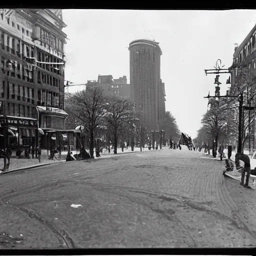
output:
<instances>
[{"instance_id":1,"label":"pale overcast sky above the street and buildings","mask_svg":"<svg viewBox=\"0 0 256 256\"><path fill-rule=\"evenodd\" d=\"M256 10L93 10L65 9L65 79L74 83L126 75L129 83L129 42L139 38L159 42L165 108L181 132L191 138L201 126L207 98L214 95L214 74L205 76L220 59L232 64L234 43L240 44L256 23ZM225 94L228 74L221 74ZM84 89L73 86L68 92Z\"/></svg>"}]
</instances>

